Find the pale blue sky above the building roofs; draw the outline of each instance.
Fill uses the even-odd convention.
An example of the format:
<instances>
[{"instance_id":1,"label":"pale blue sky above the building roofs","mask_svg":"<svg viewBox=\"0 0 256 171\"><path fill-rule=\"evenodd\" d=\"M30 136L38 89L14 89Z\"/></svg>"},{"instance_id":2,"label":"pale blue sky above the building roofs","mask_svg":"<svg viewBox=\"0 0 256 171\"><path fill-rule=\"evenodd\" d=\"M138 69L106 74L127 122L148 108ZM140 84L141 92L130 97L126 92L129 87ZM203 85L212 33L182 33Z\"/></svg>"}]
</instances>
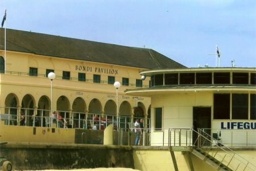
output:
<instances>
[{"instance_id":1,"label":"pale blue sky above the building roofs","mask_svg":"<svg viewBox=\"0 0 256 171\"><path fill-rule=\"evenodd\" d=\"M5 6L6 28L145 46L187 67L215 67L218 44L222 67L256 67L255 0L2 0L1 22Z\"/></svg>"}]
</instances>

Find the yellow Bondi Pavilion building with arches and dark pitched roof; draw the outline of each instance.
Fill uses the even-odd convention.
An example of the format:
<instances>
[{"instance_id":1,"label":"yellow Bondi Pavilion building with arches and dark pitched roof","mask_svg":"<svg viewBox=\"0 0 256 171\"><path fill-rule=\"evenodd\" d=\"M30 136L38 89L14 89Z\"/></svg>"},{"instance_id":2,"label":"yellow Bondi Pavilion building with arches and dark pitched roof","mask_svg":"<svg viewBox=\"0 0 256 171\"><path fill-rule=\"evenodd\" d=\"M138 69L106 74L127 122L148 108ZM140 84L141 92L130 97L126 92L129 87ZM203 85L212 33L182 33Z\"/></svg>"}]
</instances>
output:
<instances>
[{"instance_id":1,"label":"yellow Bondi Pavilion building with arches and dark pitched roof","mask_svg":"<svg viewBox=\"0 0 256 171\"><path fill-rule=\"evenodd\" d=\"M30 116L36 113L44 126L43 117L51 116L51 110L66 119L84 119L93 114L101 118L119 114L123 122L144 118L150 109L150 97L124 93L129 87L149 86L150 81L143 81L138 72L172 65L184 67L152 49L13 29L6 31L5 50L4 33L1 29L1 113L19 118L20 110L24 110L27 126L32 126ZM52 95L49 72L56 75ZM118 104L114 82L121 83ZM82 125L77 123L76 127Z\"/></svg>"}]
</instances>

